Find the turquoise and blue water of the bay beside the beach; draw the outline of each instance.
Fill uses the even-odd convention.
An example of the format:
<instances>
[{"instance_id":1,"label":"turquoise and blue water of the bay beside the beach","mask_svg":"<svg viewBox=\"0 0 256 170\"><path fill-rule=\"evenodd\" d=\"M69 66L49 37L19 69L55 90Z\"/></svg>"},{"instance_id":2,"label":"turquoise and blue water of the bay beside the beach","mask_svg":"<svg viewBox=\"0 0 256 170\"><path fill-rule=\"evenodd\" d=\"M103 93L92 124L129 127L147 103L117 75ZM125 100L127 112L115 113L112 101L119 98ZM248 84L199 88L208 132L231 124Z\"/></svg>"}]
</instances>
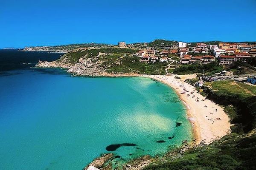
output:
<instances>
[{"instance_id":1,"label":"turquoise and blue water of the bay beside the beach","mask_svg":"<svg viewBox=\"0 0 256 170\"><path fill-rule=\"evenodd\" d=\"M9 71L0 84L1 170L81 170L110 144L137 144L113 151L127 160L192 139L177 94L152 79L32 69Z\"/></svg>"}]
</instances>

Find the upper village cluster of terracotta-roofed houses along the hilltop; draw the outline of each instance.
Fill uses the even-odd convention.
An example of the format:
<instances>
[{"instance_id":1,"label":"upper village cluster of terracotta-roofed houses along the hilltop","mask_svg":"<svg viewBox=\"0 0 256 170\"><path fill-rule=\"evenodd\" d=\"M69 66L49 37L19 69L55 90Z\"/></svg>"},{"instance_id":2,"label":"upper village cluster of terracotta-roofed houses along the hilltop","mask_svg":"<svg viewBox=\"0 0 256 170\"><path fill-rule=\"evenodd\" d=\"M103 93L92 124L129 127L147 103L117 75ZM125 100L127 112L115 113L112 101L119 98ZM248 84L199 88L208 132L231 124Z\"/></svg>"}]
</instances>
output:
<instances>
[{"instance_id":1,"label":"upper village cluster of terracotta-roofed houses along the hilltop","mask_svg":"<svg viewBox=\"0 0 256 170\"><path fill-rule=\"evenodd\" d=\"M222 65L230 65L237 60L245 62L250 57L256 57L256 44L219 42L219 45L207 45L198 42L193 47L187 46L186 42L177 42L177 45L169 48L146 49L137 53L141 58L140 62L153 63L173 61L172 57L175 55L178 57L177 62L181 64L218 61Z\"/></svg>"}]
</instances>

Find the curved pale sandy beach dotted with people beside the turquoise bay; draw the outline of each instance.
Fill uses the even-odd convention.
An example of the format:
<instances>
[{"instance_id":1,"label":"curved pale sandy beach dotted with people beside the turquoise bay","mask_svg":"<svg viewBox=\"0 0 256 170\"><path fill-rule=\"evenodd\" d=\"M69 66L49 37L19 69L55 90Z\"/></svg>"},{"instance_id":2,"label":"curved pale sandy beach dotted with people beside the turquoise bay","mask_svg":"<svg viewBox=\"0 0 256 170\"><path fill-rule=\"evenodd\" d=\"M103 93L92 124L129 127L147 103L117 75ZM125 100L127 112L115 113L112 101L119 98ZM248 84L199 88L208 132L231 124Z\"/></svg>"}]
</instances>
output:
<instances>
[{"instance_id":1,"label":"curved pale sandy beach dotted with people beside the turquoise bay","mask_svg":"<svg viewBox=\"0 0 256 170\"><path fill-rule=\"evenodd\" d=\"M163 82L172 87L184 102L187 108L187 117L192 123L196 144L204 140L209 144L216 139L230 133L230 122L223 108L211 100L205 99L199 94L195 87L184 82L185 79L193 78L195 75L179 75L181 79L175 79L174 75L142 75ZM186 93L183 93L186 91ZM217 109L217 110L216 110Z\"/></svg>"}]
</instances>

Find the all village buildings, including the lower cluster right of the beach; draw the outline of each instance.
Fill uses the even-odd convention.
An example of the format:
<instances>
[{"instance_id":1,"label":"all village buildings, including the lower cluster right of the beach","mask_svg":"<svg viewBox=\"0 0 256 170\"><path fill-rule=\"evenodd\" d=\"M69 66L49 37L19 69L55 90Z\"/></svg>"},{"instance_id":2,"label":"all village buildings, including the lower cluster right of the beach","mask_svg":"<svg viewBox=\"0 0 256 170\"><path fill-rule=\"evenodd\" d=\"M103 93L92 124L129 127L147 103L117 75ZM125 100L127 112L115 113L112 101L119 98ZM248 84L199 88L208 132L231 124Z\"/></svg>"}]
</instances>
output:
<instances>
[{"instance_id":1,"label":"all village buildings, including the lower cluster right of the beach","mask_svg":"<svg viewBox=\"0 0 256 170\"><path fill-rule=\"evenodd\" d=\"M169 62L171 64L175 62L181 65L191 65L216 61L220 65L232 65L236 61L247 62L249 58L256 57L256 44L219 42L218 45L207 45L203 42L198 42L196 46L191 46L186 42L177 42L177 45L163 47L163 49L147 48L140 50L136 55L140 57L140 62L145 63ZM177 68L177 66L175 67ZM244 74L238 77L232 71L223 70L212 76L206 77L203 75L201 81L195 85L201 87L204 81L213 82L229 79L256 84L255 75Z\"/></svg>"}]
</instances>

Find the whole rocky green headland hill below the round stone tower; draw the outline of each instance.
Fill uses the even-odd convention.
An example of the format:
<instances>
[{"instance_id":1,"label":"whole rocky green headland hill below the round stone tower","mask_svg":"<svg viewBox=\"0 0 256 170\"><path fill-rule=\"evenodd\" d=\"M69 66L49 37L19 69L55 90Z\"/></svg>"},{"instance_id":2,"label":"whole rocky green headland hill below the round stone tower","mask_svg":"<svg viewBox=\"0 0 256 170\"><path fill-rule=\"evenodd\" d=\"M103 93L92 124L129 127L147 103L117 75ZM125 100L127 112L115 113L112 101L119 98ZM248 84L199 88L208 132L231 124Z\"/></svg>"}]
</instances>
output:
<instances>
[{"instance_id":1,"label":"whole rocky green headland hill below the round stone tower","mask_svg":"<svg viewBox=\"0 0 256 170\"><path fill-rule=\"evenodd\" d=\"M131 48L82 48L64 54L55 62L38 67L60 67L76 75L165 74L167 62L143 63Z\"/></svg>"}]
</instances>

